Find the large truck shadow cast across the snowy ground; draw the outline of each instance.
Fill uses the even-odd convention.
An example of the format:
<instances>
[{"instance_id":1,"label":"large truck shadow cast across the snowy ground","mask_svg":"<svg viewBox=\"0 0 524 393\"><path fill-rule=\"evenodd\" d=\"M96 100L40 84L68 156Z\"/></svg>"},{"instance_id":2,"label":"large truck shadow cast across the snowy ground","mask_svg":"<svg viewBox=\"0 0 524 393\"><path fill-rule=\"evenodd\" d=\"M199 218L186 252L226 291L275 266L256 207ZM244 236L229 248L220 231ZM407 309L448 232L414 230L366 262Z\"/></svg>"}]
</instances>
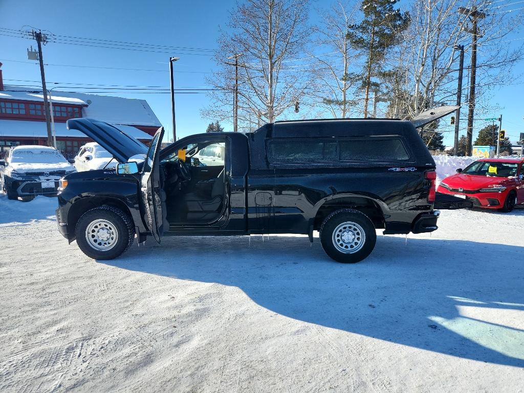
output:
<instances>
[{"instance_id":1,"label":"large truck shadow cast across the snowy ground","mask_svg":"<svg viewBox=\"0 0 524 393\"><path fill-rule=\"evenodd\" d=\"M333 262L318 239L174 237L101 261L241 288L296 320L477 361L524 367L524 247L379 236L370 257ZM216 299L217 302L226 299Z\"/></svg>"}]
</instances>

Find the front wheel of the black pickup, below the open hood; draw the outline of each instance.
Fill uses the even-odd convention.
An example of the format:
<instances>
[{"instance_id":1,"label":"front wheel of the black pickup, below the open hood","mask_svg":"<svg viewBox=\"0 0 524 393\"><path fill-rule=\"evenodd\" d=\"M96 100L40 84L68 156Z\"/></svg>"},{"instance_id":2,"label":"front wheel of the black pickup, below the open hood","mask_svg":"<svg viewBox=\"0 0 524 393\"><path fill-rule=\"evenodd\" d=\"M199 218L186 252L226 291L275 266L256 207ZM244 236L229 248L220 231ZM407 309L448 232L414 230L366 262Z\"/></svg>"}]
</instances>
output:
<instances>
[{"instance_id":1,"label":"front wheel of the black pickup, below the open hood","mask_svg":"<svg viewBox=\"0 0 524 393\"><path fill-rule=\"evenodd\" d=\"M86 234L88 226L97 220L104 220L110 224L106 225L107 230L103 228L104 235L110 236L110 238L107 239L107 243L111 243L111 239L113 238L111 236L116 234L114 244L105 245L105 243L102 243L104 241L100 241L99 243L99 247L104 248L111 246L111 248L96 249L95 235L91 235L93 237L93 244L86 238L88 236ZM102 226L99 227L102 228ZM91 232L95 230L97 229L92 228ZM133 226L131 217L129 217L127 213L113 206L104 205L88 210L80 217L75 228L75 236L77 237L78 246L88 257L101 260L113 259L122 255L133 244L135 227Z\"/></svg>"}]
</instances>

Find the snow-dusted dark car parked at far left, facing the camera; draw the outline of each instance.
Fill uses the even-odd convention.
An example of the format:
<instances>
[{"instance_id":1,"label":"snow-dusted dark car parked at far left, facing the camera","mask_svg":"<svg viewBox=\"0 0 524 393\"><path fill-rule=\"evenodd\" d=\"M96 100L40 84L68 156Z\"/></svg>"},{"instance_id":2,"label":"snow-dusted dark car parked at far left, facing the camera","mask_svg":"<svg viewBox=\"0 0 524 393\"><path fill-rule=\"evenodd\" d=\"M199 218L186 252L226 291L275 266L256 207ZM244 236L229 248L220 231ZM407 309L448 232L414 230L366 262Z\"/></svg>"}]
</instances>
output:
<instances>
[{"instance_id":1,"label":"snow-dusted dark car parked at far left, facing the camera","mask_svg":"<svg viewBox=\"0 0 524 393\"><path fill-rule=\"evenodd\" d=\"M55 195L58 181L74 167L48 146L16 146L0 160L0 183L8 199Z\"/></svg>"}]
</instances>

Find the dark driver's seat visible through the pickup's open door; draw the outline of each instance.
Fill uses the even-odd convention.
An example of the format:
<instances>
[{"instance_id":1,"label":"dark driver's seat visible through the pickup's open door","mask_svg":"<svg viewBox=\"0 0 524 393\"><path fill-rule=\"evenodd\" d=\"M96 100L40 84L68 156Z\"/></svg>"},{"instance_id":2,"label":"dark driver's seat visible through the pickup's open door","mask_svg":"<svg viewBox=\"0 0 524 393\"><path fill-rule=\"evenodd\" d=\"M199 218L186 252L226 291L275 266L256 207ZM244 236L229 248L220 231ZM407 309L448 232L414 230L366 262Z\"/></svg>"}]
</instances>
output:
<instances>
[{"instance_id":1,"label":"dark driver's seat visible through the pickup's open door","mask_svg":"<svg viewBox=\"0 0 524 393\"><path fill-rule=\"evenodd\" d=\"M213 181L210 195L200 195L194 192L189 192L184 195L185 206L188 212L187 219L213 219L222 206L224 191L224 169L222 169L222 172L220 172L219 176Z\"/></svg>"}]
</instances>

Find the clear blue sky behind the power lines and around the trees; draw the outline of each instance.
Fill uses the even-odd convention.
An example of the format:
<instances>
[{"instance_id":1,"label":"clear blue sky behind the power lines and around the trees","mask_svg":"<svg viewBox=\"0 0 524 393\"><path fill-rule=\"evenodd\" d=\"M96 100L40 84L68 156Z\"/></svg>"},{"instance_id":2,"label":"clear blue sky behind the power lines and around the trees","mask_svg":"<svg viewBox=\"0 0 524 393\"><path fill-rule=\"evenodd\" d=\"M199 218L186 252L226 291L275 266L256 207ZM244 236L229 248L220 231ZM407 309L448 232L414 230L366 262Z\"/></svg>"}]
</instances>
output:
<instances>
[{"instance_id":1,"label":"clear blue sky behind the power lines and around the trees","mask_svg":"<svg viewBox=\"0 0 524 393\"><path fill-rule=\"evenodd\" d=\"M404 2L400 3L401 6L402 3ZM329 4L331 1L315 2L316 7L324 7ZM20 29L24 26L25 28L32 26L61 36L215 49L216 40L220 34L219 29L226 27L229 11L234 6L233 0L219 2L202 0L191 2L136 0L126 2L100 0L36 2L18 0L15 2L0 0L0 27ZM519 42L522 41L516 41L515 44ZM4 83L31 84L9 79L29 81L40 79L38 65L28 63L27 60L26 48L30 45L35 47L35 41L0 35L0 61L4 63L2 67ZM205 77L209 77L210 72L217 67L211 52L189 53L191 52L182 49L170 53L156 53L52 42L43 48L44 60L49 64L155 70L129 71L48 65L46 67L48 82L167 87L169 86L168 60L170 56L177 56L180 57L180 60L175 64L176 88L208 86ZM524 70L523 65L523 63L519 64L517 72ZM465 80L464 83L466 83ZM49 84L48 88L51 86L53 85ZM504 107L502 111L503 128L506 129L506 134L512 141L517 139L520 132L524 132L523 91L522 84L514 84L493 92L493 102ZM147 100L171 135L169 94L118 95ZM201 118L200 109L207 103L208 97L205 94L176 95L178 137L205 131L210 119ZM463 118L465 113L467 113L466 107L462 110ZM498 117L498 115L477 112L475 117ZM461 125L465 127L465 120L462 122ZM483 124L484 122L477 122L475 125L477 130ZM232 130L231 125L224 124L224 126L226 130ZM453 126L449 125L446 129L452 130ZM452 139L451 132L445 133L444 143L446 145L451 145Z\"/></svg>"}]
</instances>

